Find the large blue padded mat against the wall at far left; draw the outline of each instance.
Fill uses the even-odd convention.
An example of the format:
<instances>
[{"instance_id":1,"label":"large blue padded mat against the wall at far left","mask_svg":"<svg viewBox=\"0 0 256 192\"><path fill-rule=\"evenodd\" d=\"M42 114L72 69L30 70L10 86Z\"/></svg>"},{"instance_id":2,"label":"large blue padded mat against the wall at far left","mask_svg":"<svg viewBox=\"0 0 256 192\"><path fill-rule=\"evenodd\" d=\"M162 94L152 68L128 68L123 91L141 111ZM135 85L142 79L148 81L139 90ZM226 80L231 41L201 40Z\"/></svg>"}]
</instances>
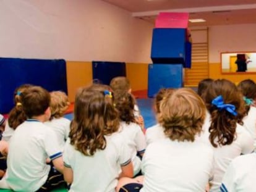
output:
<instances>
[{"instance_id":1,"label":"large blue padded mat against the wall at far left","mask_svg":"<svg viewBox=\"0 0 256 192\"><path fill-rule=\"evenodd\" d=\"M11 111L14 90L25 83L67 93L66 61L0 58L0 113Z\"/></svg>"}]
</instances>

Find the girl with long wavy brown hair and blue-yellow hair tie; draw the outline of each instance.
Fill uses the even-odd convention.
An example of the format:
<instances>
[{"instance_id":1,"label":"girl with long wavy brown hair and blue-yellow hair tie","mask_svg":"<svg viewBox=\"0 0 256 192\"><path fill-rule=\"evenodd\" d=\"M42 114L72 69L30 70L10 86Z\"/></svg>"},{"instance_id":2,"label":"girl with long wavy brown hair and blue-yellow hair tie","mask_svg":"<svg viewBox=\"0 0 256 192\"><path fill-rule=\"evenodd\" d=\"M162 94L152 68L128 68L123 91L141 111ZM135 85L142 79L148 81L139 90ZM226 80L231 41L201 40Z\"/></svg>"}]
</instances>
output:
<instances>
[{"instance_id":1,"label":"girl with long wavy brown hair and blue-yellow hair tie","mask_svg":"<svg viewBox=\"0 0 256 192\"><path fill-rule=\"evenodd\" d=\"M132 177L127 143L119 129L113 93L103 85L80 88L64 148L64 178L70 191L114 191L117 178ZM119 174L119 170L121 173Z\"/></svg>"}]
</instances>

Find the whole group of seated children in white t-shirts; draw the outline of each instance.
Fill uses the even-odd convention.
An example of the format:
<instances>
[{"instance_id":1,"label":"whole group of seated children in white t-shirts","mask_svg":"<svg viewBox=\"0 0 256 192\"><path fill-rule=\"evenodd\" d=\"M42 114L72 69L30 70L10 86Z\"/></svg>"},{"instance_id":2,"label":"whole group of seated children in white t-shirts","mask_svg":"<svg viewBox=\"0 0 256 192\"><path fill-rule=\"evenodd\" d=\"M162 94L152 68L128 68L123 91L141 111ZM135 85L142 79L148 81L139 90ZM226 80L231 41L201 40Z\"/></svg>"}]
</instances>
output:
<instances>
[{"instance_id":1,"label":"whole group of seated children in white t-shirts","mask_svg":"<svg viewBox=\"0 0 256 192\"><path fill-rule=\"evenodd\" d=\"M22 85L9 118L0 115L0 152L7 156L0 188L254 191L255 98L252 80L202 80L198 93L162 89L154 104L158 123L144 135L125 77L79 88L71 122L63 117L65 93Z\"/></svg>"}]
</instances>

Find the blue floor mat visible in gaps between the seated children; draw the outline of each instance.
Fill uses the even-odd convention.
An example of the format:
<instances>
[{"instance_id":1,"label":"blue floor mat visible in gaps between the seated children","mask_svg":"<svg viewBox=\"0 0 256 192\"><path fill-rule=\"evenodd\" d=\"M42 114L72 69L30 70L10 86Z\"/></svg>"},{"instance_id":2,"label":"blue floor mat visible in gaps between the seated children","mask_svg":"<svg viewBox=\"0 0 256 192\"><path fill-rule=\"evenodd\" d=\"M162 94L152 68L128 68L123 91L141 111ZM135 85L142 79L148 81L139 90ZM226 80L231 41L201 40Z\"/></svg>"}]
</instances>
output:
<instances>
[{"instance_id":1,"label":"blue floor mat visible in gaps between the seated children","mask_svg":"<svg viewBox=\"0 0 256 192\"><path fill-rule=\"evenodd\" d=\"M153 100L152 98L147 99L136 99L140 109L140 113L144 119L145 128L151 127L156 124L155 114L153 111ZM72 120L74 114L66 114L65 117Z\"/></svg>"}]
</instances>

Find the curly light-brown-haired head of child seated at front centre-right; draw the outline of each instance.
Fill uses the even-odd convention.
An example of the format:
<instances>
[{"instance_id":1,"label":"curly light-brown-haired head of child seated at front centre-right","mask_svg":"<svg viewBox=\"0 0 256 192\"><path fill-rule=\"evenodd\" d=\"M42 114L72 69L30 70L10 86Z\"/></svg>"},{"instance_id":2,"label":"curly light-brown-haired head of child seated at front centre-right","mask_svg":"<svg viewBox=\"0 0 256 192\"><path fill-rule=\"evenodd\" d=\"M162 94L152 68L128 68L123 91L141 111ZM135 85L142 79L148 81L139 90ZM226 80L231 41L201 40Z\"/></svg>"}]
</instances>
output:
<instances>
[{"instance_id":1,"label":"curly light-brown-haired head of child seated at front centre-right","mask_svg":"<svg viewBox=\"0 0 256 192\"><path fill-rule=\"evenodd\" d=\"M160 103L158 122L171 140L194 141L202 131L205 104L195 91L181 88L167 94Z\"/></svg>"}]
</instances>

